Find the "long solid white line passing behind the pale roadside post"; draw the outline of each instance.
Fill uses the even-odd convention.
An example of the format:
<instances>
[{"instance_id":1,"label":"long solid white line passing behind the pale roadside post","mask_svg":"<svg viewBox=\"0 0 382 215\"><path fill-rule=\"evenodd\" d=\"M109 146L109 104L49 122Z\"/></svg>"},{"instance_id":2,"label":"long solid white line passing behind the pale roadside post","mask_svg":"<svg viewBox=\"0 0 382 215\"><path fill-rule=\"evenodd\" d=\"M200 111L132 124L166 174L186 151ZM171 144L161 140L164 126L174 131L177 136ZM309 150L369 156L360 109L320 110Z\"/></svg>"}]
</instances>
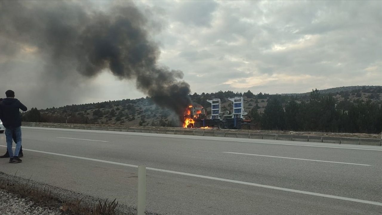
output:
<instances>
[{"instance_id":1,"label":"long solid white line passing behind the pale roadside post","mask_svg":"<svg viewBox=\"0 0 382 215\"><path fill-rule=\"evenodd\" d=\"M0 145L0 146L6 147L3 145ZM15 148L15 147L13 147L13 148ZM37 152L37 153L44 153L44 154L48 154L48 155L57 155L57 156L63 156L63 157L68 157L68 158L77 158L77 159L81 159L81 160L88 160L88 161L95 161L95 162L101 162L101 163L108 163L108 164L138 168L137 165L126 164L126 163L118 163L118 162L113 162L113 161L98 160L98 159L94 159L94 158L84 158L84 157L79 157L79 156L58 154L58 153L47 152L47 151L37 151L37 150L25 149L25 148L23 148L23 150L33 151L33 152ZM151 168L151 167L147 167L146 169L149 169L152 171L159 171L159 172L163 172L163 173L172 173L172 174L178 174L178 175L183 175L183 176L191 176L191 177L210 179L210 180L215 180L215 181L231 182L231 183L235 183L235 184L243 184L243 185L254 186L254 187L262 187L262 188L274 189L274 190L279 190L279 191L294 192L294 193L298 193L298 194L314 195L314 196L331 198L331 199L339 199L339 200L345 200L345 201L350 201L350 202L358 202L358 203L382 206L382 202L373 202L373 201L368 201L368 200L353 199L353 198L342 197L342 196L337 196L337 195L328 195L328 194L321 194L321 193L316 193L316 192L300 191L300 190L289 189L289 188L284 188L284 187L275 187L275 186L269 186L269 185L264 185L264 184L256 184L256 183L252 183L252 182L236 181L236 180L231 180L231 179L217 178L217 177L204 176L204 175L198 175L198 174L192 174L192 173L183 173L183 172L172 171L172 170L167 170L167 169L157 169L157 168Z\"/></svg>"}]
</instances>

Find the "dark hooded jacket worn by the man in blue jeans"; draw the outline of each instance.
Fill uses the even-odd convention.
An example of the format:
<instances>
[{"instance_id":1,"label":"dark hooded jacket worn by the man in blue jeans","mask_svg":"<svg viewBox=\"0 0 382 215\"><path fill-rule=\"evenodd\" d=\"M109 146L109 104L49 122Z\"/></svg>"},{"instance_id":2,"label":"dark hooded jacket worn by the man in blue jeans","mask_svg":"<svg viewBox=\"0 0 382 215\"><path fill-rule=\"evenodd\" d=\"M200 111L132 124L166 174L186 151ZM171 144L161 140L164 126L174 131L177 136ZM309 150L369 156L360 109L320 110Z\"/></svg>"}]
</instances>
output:
<instances>
[{"instance_id":1,"label":"dark hooded jacket worn by the man in blue jeans","mask_svg":"<svg viewBox=\"0 0 382 215\"><path fill-rule=\"evenodd\" d=\"M15 98L5 98L0 102L0 119L4 127L20 127L21 116L20 111L26 111L27 108L23 103Z\"/></svg>"}]
</instances>

